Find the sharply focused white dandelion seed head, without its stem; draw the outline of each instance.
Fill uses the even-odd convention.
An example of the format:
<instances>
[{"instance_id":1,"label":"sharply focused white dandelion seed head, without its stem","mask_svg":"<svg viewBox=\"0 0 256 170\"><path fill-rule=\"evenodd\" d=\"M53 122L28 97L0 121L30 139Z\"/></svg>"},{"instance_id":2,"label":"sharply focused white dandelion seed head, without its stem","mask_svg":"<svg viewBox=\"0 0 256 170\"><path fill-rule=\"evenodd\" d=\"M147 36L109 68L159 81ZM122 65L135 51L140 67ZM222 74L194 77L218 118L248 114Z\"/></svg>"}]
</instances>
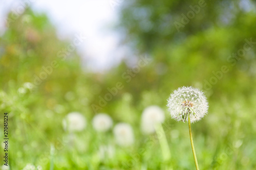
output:
<instances>
[{"instance_id":1,"label":"sharply focused white dandelion seed head, without its stem","mask_svg":"<svg viewBox=\"0 0 256 170\"><path fill-rule=\"evenodd\" d=\"M172 118L186 122L190 116L191 123L200 120L207 113L208 102L202 91L194 87L181 87L168 99L168 110Z\"/></svg>"}]
</instances>

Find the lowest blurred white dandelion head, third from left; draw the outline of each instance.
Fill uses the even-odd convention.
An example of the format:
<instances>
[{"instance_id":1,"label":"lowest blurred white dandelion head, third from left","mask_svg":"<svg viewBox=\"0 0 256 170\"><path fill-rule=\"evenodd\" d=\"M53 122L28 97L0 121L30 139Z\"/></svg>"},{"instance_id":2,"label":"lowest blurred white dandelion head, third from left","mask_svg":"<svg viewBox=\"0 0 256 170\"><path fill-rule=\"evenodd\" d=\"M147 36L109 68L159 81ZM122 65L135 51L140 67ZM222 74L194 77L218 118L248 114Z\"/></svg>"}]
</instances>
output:
<instances>
[{"instance_id":1,"label":"lowest blurred white dandelion head, third from left","mask_svg":"<svg viewBox=\"0 0 256 170\"><path fill-rule=\"evenodd\" d=\"M114 135L118 145L126 147L134 143L134 134L131 125L119 123L114 128Z\"/></svg>"}]
</instances>

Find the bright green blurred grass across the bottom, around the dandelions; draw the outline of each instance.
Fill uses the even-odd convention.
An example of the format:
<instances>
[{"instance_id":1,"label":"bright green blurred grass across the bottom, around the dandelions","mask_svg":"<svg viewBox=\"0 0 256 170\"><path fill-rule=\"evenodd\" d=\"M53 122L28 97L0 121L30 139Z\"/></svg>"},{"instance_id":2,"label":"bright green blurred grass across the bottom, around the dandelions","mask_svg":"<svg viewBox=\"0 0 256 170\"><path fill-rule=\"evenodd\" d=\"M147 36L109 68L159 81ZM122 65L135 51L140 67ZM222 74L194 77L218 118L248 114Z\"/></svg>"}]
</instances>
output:
<instances>
[{"instance_id":1,"label":"bright green blurred grass across the bottom, around the dandelions","mask_svg":"<svg viewBox=\"0 0 256 170\"><path fill-rule=\"evenodd\" d=\"M70 134L62 128L62 118L68 112L48 110L40 104L36 91L22 95L1 91L0 94L1 111L9 110L11 169L22 169L27 163L41 165L43 169L195 169L187 123L175 122L167 112L163 130L169 147L165 152L170 152L171 156L164 160L159 137L140 132L141 111L133 106L131 110L134 112L118 113L119 116L135 116L135 122L127 121L133 126L135 143L123 148L115 144L112 131L94 131L92 113L81 111L87 117L87 128ZM227 101L225 98L209 101L208 114L200 122L192 124L200 169L255 168L256 126L253 121L255 114L250 107L253 101L254 96L246 100L240 98L239 101ZM120 122L113 117L114 124ZM3 116L0 121L2 124ZM102 145L112 148L105 151L103 159L99 156Z\"/></svg>"}]
</instances>

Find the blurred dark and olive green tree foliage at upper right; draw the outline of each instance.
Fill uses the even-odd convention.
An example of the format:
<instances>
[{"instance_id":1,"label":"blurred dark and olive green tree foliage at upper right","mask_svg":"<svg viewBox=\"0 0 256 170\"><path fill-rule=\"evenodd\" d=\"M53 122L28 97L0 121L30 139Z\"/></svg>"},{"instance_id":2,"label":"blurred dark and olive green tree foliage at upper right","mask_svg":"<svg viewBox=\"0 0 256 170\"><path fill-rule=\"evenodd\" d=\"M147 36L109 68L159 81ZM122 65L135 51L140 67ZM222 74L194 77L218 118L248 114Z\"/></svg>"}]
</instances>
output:
<instances>
[{"instance_id":1,"label":"blurred dark and olive green tree foliage at upper right","mask_svg":"<svg viewBox=\"0 0 256 170\"><path fill-rule=\"evenodd\" d=\"M199 7L200 2L204 7ZM248 2L250 11L244 9ZM199 12L177 30L175 22L184 23L182 14L193 11L190 6L199 7ZM234 91L251 94L256 73L255 2L141 0L124 2L122 7L119 28L125 33L123 42L139 54L154 58L147 75L164 81L154 81L158 89L192 84L206 90L204 80L209 82L212 71L226 65L229 71L209 93L215 92L217 98L223 93L233 95ZM229 57L243 49L245 39L252 39L254 44L233 65ZM163 69L161 75L157 75L159 69Z\"/></svg>"}]
</instances>

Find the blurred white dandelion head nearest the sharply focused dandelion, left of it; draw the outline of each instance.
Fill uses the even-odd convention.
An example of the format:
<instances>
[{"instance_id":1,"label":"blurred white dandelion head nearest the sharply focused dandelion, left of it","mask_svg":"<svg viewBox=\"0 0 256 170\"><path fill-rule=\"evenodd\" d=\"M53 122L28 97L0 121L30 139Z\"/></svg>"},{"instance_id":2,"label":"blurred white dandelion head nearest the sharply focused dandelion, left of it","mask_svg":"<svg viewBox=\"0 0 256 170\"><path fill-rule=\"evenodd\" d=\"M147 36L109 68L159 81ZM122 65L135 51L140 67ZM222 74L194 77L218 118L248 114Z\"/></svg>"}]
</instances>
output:
<instances>
[{"instance_id":1,"label":"blurred white dandelion head nearest the sharply focused dandelion, left of it","mask_svg":"<svg viewBox=\"0 0 256 170\"><path fill-rule=\"evenodd\" d=\"M158 106L149 106L141 116L141 130L145 134L155 132L155 125L164 122L164 111Z\"/></svg>"}]
</instances>

